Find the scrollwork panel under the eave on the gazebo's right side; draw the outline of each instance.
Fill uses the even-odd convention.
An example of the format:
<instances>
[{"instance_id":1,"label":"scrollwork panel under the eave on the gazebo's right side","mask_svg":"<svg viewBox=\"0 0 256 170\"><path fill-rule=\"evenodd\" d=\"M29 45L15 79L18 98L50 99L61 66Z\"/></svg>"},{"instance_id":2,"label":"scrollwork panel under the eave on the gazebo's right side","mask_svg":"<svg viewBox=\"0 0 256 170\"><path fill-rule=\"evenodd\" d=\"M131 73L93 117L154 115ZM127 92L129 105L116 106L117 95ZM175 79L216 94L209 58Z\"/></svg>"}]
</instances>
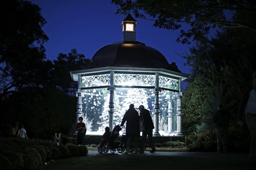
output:
<instances>
[{"instance_id":1,"label":"scrollwork panel under the eave on the gazebo's right side","mask_svg":"<svg viewBox=\"0 0 256 170\"><path fill-rule=\"evenodd\" d=\"M179 90L179 80L159 75L159 87Z\"/></svg>"}]
</instances>

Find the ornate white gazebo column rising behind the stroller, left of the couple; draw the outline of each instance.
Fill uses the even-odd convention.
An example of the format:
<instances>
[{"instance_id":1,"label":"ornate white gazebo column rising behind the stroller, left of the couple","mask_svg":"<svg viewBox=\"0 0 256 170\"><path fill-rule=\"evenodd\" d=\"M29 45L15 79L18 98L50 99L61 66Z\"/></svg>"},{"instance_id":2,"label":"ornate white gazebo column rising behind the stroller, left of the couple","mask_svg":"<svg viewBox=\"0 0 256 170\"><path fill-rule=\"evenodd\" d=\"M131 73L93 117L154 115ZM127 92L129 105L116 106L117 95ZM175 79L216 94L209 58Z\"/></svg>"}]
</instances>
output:
<instances>
[{"instance_id":1,"label":"ornate white gazebo column rising behind the stroller, left of the couple","mask_svg":"<svg viewBox=\"0 0 256 170\"><path fill-rule=\"evenodd\" d=\"M113 130L114 124L114 71L110 71L110 87L108 88L109 97L109 128L110 131Z\"/></svg>"}]
</instances>

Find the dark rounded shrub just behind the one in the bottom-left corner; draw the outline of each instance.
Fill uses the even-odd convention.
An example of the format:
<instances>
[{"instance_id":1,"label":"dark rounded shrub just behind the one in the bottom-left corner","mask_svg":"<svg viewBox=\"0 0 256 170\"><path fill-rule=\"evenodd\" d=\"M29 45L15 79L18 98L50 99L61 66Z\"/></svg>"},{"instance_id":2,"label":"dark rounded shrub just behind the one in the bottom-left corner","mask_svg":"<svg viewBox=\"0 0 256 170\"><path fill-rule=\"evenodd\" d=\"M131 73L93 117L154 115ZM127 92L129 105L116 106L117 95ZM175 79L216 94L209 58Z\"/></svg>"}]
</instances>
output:
<instances>
[{"instance_id":1,"label":"dark rounded shrub just behind the one in the bottom-left corner","mask_svg":"<svg viewBox=\"0 0 256 170\"><path fill-rule=\"evenodd\" d=\"M16 153L13 151L4 151L3 155L10 160L13 169L20 169L24 166L24 161L22 159L21 153Z\"/></svg>"}]
</instances>

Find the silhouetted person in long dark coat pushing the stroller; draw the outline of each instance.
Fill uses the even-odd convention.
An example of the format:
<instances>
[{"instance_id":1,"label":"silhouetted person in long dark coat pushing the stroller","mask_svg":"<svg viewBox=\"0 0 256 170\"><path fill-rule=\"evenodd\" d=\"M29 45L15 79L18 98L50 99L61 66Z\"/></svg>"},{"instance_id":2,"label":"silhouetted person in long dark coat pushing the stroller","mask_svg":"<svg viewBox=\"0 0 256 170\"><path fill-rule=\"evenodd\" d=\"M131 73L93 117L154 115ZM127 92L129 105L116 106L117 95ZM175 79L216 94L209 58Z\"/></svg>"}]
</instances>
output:
<instances>
[{"instance_id":1,"label":"silhouetted person in long dark coat pushing the stroller","mask_svg":"<svg viewBox=\"0 0 256 170\"><path fill-rule=\"evenodd\" d=\"M123 126L126 122L126 152L130 151L131 143L134 140L134 153L138 153L138 140L139 140L139 113L134 109L134 105L130 104L129 109L124 114L121 125Z\"/></svg>"}]
</instances>

